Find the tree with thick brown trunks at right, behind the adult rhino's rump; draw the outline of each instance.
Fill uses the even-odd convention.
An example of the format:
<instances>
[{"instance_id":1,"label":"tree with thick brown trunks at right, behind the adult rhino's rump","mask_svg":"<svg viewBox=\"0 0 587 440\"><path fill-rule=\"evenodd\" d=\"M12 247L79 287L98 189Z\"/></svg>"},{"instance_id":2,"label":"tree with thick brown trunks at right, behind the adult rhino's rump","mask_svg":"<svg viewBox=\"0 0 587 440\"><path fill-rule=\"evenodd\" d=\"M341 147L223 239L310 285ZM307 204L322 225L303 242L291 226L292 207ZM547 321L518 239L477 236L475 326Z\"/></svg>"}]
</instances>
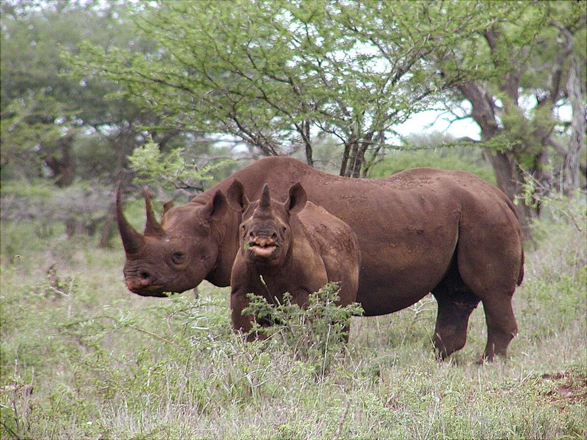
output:
<instances>
[{"instance_id":1,"label":"tree with thick brown trunks at right, behind the adult rhino's rump","mask_svg":"<svg viewBox=\"0 0 587 440\"><path fill-rule=\"evenodd\" d=\"M488 25L450 53L430 63L444 71L484 70L480 79L451 90L448 107L458 119L481 128L481 145L497 184L512 200L525 180L570 193L581 183L585 147L585 2L494 2ZM471 65L464 50L475 50ZM454 109L462 99L471 109ZM570 123L557 111L571 109ZM518 217L537 214L535 204L518 204ZM537 205L539 207L539 204Z\"/></svg>"}]
</instances>

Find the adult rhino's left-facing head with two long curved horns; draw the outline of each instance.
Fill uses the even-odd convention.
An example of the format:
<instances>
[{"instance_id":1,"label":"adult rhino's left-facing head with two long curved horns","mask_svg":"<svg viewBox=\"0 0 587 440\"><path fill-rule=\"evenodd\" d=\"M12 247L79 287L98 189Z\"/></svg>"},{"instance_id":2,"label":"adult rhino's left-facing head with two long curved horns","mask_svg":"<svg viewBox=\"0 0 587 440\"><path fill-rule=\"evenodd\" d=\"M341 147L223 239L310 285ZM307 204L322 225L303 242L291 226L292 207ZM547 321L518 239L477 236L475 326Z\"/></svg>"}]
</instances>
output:
<instances>
[{"instance_id":1,"label":"adult rhino's left-facing head with two long curved horns","mask_svg":"<svg viewBox=\"0 0 587 440\"><path fill-rule=\"evenodd\" d=\"M188 203L173 207L167 202L159 223L144 192L147 224L137 232L123 213L120 187L116 194L116 219L126 262L127 288L141 296L167 296L197 286L214 269L220 253L218 223L227 211L221 191L205 205Z\"/></svg>"}]
</instances>

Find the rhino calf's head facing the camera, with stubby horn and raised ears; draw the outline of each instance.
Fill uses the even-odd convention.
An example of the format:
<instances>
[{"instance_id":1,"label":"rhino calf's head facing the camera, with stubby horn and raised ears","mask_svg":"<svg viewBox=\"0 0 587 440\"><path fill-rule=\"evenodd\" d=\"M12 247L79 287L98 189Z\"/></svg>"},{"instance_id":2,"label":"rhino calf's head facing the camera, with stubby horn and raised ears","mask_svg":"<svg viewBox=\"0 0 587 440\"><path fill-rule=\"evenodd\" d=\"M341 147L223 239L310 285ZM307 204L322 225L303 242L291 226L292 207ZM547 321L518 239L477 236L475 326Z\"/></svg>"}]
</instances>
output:
<instances>
[{"instance_id":1,"label":"rhino calf's head facing the camera, with stubby horn and raised ears","mask_svg":"<svg viewBox=\"0 0 587 440\"><path fill-rule=\"evenodd\" d=\"M249 202L241 182L235 180L227 191L228 204L242 213L239 246L242 256L251 263L281 266L292 242L291 215L306 205L302 185L289 189L285 203L271 199L269 185L265 184L261 198Z\"/></svg>"}]
</instances>

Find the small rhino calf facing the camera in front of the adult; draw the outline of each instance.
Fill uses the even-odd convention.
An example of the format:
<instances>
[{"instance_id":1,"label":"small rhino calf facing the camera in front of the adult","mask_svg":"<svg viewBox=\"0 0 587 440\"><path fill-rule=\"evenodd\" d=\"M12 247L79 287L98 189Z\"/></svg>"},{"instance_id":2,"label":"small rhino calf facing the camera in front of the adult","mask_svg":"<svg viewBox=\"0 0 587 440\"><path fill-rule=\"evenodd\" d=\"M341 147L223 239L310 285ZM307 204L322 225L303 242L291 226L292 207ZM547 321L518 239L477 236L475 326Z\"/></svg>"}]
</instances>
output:
<instances>
[{"instance_id":1,"label":"small rhino calf facing the camera in front of the adult","mask_svg":"<svg viewBox=\"0 0 587 440\"><path fill-rule=\"evenodd\" d=\"M242 315L249 304L248 293L275 303L289 292L292 302L303 307L310 293L328 282L338 282L338 304L355 301L360 268L355 233L345 222L307 201L302 185L293 185L282 203L271 199L265 184L261 199L249 202L243 185L235 180L227 199L232 209L242 212L230 283L235 330L251 328L254 317Z\"/></svg>"}]
</instances>

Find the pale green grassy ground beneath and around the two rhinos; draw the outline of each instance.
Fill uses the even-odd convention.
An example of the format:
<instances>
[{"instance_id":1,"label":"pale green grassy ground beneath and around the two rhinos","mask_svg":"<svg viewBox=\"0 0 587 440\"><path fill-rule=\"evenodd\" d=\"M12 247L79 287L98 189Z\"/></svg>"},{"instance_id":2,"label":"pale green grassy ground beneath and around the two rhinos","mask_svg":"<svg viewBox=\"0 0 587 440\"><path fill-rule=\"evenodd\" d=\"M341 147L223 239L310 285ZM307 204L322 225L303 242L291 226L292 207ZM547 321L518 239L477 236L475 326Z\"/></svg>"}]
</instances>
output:
<instances>
[{"instance_id":1,"label":"pale green grassy ground beneath and around the two rhinos","mask_svg":"<svg viewBox=\"0 0 587 440\"><path fill-rule=\"evenodd\" d=\"M2 438L587 437L587 252L573 225L542 225L527 251L509 360L477 365L480 305L465 348L438 363L428 296L354 317L328 369L279 338L243 343L227 289L139 297L119 245L32 221L1 232Z\"/></svg>"}]
</instances>

